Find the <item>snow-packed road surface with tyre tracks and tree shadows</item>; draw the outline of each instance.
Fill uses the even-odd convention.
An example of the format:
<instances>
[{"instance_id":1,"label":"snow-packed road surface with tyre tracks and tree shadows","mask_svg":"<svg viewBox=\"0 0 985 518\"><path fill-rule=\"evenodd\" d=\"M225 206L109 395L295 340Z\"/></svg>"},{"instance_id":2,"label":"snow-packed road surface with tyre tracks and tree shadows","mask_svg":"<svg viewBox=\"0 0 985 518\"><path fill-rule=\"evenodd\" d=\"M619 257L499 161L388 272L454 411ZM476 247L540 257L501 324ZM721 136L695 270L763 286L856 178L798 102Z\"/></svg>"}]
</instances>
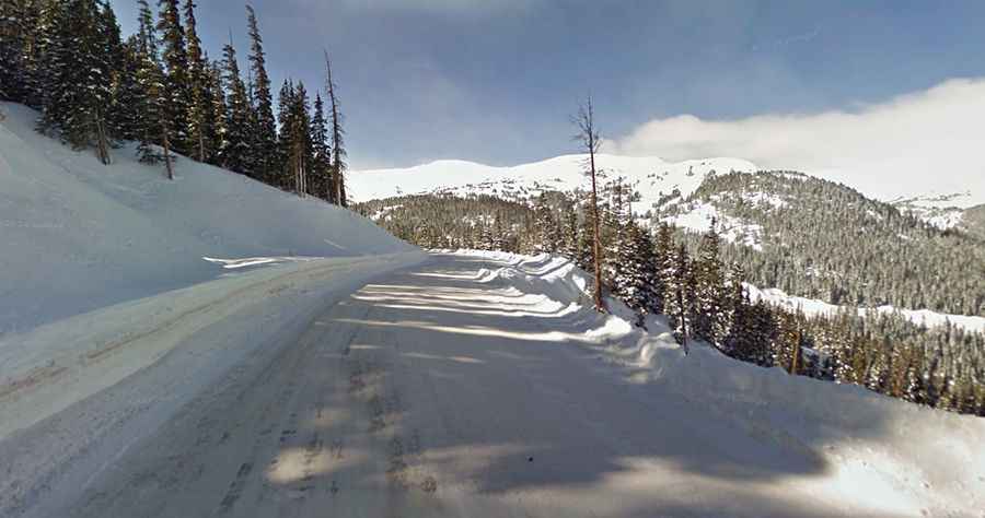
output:
<instances>
[{"instance_id":1,"label":"snow-packed road surface with tyre tracks and tree shadows","mask_svg":"<svg viewBox=\"0 0 985 518\"><path fill-rule=\"evenodd\" d=\"M892 488L859 495L810 447L630 382L628 367L578 343L584 311L490 281L486 273L501 266L436 256L305 315L297 332L276 333L277 343L217 369L221 375L187 401L172 404L171 393L192 381L155 364L18 431L0 442L0 458L12 461L0 466L0 491L16 495L0 499L0 514L758 517L916 509ZM209 353L201 354L207 364ZM107 411L115 405L129 410ZM78 423L96 421L118 424L92 425L100 436L81 450L67 446L83 434ZM30 468L59 448L71 450L68 461Z\"/></svg>"}]
</instances>

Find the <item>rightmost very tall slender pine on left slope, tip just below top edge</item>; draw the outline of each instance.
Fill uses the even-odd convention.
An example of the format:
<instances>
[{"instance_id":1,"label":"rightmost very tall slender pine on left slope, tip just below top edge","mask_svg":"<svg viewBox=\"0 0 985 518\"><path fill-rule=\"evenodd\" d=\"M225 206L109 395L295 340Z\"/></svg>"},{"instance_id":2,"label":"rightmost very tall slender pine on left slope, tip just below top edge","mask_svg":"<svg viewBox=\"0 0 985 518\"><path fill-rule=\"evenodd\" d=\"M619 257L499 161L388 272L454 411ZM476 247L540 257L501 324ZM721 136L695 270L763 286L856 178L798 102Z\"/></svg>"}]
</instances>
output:
<instances>
[{"instance_id":1,"label":"rightmost very tall slender pine on left slope, tip just below top edge","mask_svg":"<svg viewBox=\"0 0 985 518\"><path fill-rule=\"evenodd\" d=\"M253 7L246 5L246 23L250 32L251 103L254 110L252 156L250 163L257 178L270 181L280 163L277 161L277 127L274 122L274 97L270 78L267 75L267 58Z\"/></svg>"}]
</instances>

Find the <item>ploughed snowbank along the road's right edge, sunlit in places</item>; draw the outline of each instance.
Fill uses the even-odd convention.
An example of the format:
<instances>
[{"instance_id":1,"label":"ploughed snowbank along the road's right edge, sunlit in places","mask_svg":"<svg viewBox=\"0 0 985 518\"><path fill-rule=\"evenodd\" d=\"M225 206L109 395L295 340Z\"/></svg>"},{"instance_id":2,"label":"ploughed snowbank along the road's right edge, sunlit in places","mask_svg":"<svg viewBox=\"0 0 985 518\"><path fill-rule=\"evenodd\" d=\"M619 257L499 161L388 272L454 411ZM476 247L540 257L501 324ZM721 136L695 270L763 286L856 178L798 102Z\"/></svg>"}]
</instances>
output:
<instances>
[{"instance_id":1,"label":"ploughed snowbank along the road's right edge, sunlit in places","mask_svg":"<svg viewBox=\"0 0 985 518\"><path fill-rule=\"evenodd\" d=\"M902 516L980 516L985 509L985 419L789 376L702 342L692 342L684 355L662 316L648 317L644 330L630 323L634 315L618 301L607 301L610 315L595 313L590 275L567 259L453 254L506 263L484 280L523 286L519 291L526 296L567 307L565 340L595 348L633 385L674 392L752 437L815 459L827 467L823 484L848 499L878 502Z\"/></svg>"}]
</instances>

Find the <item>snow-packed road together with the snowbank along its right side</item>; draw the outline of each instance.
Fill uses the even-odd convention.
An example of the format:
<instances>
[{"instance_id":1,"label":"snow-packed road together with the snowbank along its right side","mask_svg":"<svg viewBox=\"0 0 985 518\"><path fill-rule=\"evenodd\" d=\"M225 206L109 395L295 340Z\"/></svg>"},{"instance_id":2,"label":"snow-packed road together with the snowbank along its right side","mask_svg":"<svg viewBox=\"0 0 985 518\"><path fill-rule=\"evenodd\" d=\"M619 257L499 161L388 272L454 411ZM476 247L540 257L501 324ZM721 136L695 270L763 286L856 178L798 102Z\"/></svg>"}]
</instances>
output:
<instances>
[{"instance_id":1,"label":"snow-packed road together with the snowbank along its right side","mask_svg":"<svg viewBox=\"0 0 985 518\"><path fill-rule=\"evenodd\" d=\"M418 260L281 264L234 278L244 296L204 289L211 309L175 299L76 381L166 353L8 425L0 515L985 516L983 420L685 357L659 319L594 314L560 259Z\"/></svg>"}]
</instances>

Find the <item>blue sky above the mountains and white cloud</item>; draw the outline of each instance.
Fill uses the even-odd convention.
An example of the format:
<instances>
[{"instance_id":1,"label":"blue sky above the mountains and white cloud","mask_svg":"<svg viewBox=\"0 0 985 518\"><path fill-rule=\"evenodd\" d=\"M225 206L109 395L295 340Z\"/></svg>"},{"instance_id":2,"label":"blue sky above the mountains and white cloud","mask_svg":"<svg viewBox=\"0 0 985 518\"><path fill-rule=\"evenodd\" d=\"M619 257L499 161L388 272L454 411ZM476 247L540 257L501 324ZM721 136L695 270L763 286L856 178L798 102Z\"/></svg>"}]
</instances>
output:
<instances>
[{"instance_id":1,"label":"blue sky above the mountains and white cloud","mask_svg":"<svg viewBox=\"0 0 985 518\"><path fill-rule=\"evenodd\" d=\"M124 32L136 1L113 0ZM334 59L354 166L437 158L509 165L577 151L591 92L621 142L693 115L853 113L983 74L985 2L256 0L275 81L322 85ZM201 0L212 57L243 3ZM624 146L637 153L661 149ZM711 146L707 152L715 152Z\"/></svg>"}]
</instances>

